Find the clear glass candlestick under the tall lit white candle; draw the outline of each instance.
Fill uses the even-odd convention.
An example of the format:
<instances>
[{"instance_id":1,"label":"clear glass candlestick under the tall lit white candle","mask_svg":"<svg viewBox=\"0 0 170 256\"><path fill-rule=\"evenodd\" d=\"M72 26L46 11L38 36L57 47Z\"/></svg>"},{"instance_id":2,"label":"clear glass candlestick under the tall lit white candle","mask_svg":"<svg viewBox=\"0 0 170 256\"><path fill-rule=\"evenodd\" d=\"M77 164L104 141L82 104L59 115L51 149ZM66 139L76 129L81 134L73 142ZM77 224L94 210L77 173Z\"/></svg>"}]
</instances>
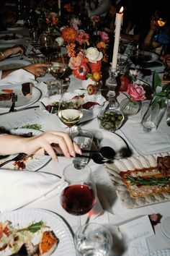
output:
<instances>
[{"instance_id":1,"label":"clear glass candlestick under the tall lit white candle","mask_svg":"<svg viewBox=\"0 0 170 256\"><path fill-rule=\"evenodd\" d=\"M119 108L119 103L117 102L116 99L116 93L115 93L115 88L117 87L117 72L113 72L112 68L109 70L109 79L106 83L107 88L109 88L109 92L107 93L107 96L109 98L109 109L117 109Z\"/></svg>"}]
</instances>

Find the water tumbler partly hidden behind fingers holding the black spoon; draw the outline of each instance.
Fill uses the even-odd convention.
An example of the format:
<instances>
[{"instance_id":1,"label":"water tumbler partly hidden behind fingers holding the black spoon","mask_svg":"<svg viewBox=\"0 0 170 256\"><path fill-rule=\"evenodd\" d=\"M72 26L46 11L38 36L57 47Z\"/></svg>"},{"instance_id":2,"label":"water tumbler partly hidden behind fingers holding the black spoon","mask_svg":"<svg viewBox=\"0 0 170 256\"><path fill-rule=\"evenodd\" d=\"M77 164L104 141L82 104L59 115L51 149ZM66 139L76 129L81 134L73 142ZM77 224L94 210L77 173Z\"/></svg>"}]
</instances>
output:
<instances>
[{"instance_id":1,"label":"water tumbler partly hidden behind fingers holding the black spoon","mask_svg":"<svg viewBox=\"0 0 170 256\"><path fill-rule=\"evenodd\" d=\"M81 150L91 150L91 145L93 142L93 134L86 129L75 129L70 133L70 136L76 144L79 145ZM89 155L89 153L83 153L84 155ZM74 167L77 169L84 168L89 162L89 158L73 158Z\"/></svg>"}]
</instances>

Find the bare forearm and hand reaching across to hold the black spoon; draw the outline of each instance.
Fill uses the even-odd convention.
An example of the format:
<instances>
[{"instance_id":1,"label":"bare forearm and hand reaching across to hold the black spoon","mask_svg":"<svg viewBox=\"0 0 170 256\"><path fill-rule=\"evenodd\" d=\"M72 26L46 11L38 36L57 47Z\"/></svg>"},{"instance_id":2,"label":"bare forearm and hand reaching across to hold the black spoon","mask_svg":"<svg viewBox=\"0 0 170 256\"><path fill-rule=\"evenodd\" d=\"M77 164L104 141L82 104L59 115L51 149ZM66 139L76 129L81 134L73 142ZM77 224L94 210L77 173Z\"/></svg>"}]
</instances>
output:
<instances>
[{"instance_id":1,"label":"bare forearm and hand reaching across to hold the black spoon","mask_svg":"<svg viewBox=\"0 0 170 256\"><path fill-rule=\"evenodd\" d=\"M47 131L34 137L22 137L18 135L0 134L0 155L12 155L17 153L40 154L45 151L54 161L58 161L51 144L58 144L66 158L81 154L81 149L66 132Z\"/></svg>"}]
</instances>

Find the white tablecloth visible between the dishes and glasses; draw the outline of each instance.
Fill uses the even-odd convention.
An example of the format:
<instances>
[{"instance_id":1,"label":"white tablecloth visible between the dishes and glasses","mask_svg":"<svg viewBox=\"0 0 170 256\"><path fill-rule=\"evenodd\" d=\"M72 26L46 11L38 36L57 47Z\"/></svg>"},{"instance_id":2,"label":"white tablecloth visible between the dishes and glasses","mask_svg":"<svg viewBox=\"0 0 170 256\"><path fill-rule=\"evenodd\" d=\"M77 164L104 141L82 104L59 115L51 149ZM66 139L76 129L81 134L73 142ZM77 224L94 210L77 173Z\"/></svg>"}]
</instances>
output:
<instances>
[{"instance_id":1,"label":"white tablecloth visible between the dishes and glasses","mask_svg":"<svg viewBox=\"0 0 170 256\"><path fill-rule=\"evenodd\" d=\"M19 33L19 31L17 32ZM22 38L21 43L23 43L23 40L24 39ZM28 40L27 37L24 41L25 46L31 44L31 41ZM19 42L17 41L17 44L18 43ZM3 43L1 43L1 45L3 45ZM29 60L28 56L22 57L24 60ZM12 59L18 58L19 57L16 56ZM17 108L17 111L5 113L8 111L1 108L0 103L0 127L14 129L16 127L24 127L28 124L39 124L40 131L42 132L48 131L49 129L68 132L68 128L61 123L56 114L50 114L42 108L43 99L48 98L46 82L51 78L53 77L49 73L46 73L44 77L37 77L34 85L36 88L35 93L38 91L37 98L35 98L35 101L28 103L27 106ZM68 91L81 90L81 80L73 77L72 74L69 78ZM151 84L151 76L143 77L143 80L145 79ZM99 95L97 95L97 97L99 97ZM125 94L119 93L117 101L120 103L123 98L125 98ZM127 149L128 155L120 154L117 159L113 160L113 165L115 161L115 163L119 163L120 166L122 164L123 167L123 163L124 165L125 163L128 164L128 162L125 162L125 159L130 159L129 164L132 164L133 162L135 165L135 162L140 161L142 156L145 156L145 159L150 161L150 158L152 158L153 155L159 155L161 153L170 155L170 128L166 124L166 114L162 117L156 131L143 131L141 119L146 110L145 102L143 102L142 107L137 114L134 116L127 116L120 129L117 129L115 132L109 132L99 127L99 122L97 120L97 111L99 111L99 109L99 107L95 107L95 111L92 113L92 118L89 120L82 119L78 126L81 127L81 129L87 129L93 132L93 134L98 132L103 137L105 136L105 143L109 146L116 145L118 148L117 150L120 150L122 145ZM54 174L59 176L60 179L63 174L63 169L70 163L72 163L71 158L60 156L58 157L58 162L55 162L48 157L48 161L46 161L42 167L36 169L33 174L38 172ZM126 197L120 198L120 196L117 196L115 183L112 180L112 175L107 169L107 165L97 164L92 160L89 161L88 165L91 168L97 186L97 203L91 210L91 214L87 213L84 216L81 216L81 224L88 221L107 226L113 236L112 251L109 255L170 255L170 235L167 236L164 234L162 229L164 220L170 220L170 198L167 197L166 200L153 200L150 203L141 202L140 205L135 205L134 202L134 205L128 207L128 205L125 204L125 201L128 199ZM34 191L36 193L36 190ZM61 216L73 235L78 227L78 216L73 216L62 208L60 203L60 193L59 186L58 189L54 189L26 205L23 204L19 209L38 208L55 213L58 216ZM12 210L17 210L17 208L13 208ZM10 212L10 207L8 211ZM2 211L0 213L0 217L4 212ZM161 220L156 226L151 226L151 222L148 219L148 216L152 214L159 214L161 216ZM169 225L169 223L167 223L167 225ZM130 236L130 239L128 239L128 235ZM76 255L76 252L74 253ZM53 255L58 255L57 250ZM67 256L68 254L63 253L62 255Z\"/></svg>"}]
</instances>

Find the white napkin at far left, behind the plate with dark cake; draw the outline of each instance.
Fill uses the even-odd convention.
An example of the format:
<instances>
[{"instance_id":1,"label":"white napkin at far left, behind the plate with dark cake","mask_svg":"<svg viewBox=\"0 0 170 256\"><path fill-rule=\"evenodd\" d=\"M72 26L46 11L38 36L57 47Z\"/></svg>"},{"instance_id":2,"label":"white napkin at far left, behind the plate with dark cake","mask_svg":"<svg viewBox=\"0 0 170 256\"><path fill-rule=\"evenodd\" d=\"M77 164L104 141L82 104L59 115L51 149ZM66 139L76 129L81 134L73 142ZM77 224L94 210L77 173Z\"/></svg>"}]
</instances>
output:
<instances>
[{"instance_id":1,"label":"white napkin at far left, behind the plate with dark cake","mask_svg":"<svg viewBox=\"0 0 170 256\"><path fill-rule=\"evenodd\" d=\"M24 69L17 69L16 71L8 74L6 77L0 80L0 85L6 84L18 84L23 82L32 82L37 84L34 74L27 72Z\"/></svg>"}]
</instances>

